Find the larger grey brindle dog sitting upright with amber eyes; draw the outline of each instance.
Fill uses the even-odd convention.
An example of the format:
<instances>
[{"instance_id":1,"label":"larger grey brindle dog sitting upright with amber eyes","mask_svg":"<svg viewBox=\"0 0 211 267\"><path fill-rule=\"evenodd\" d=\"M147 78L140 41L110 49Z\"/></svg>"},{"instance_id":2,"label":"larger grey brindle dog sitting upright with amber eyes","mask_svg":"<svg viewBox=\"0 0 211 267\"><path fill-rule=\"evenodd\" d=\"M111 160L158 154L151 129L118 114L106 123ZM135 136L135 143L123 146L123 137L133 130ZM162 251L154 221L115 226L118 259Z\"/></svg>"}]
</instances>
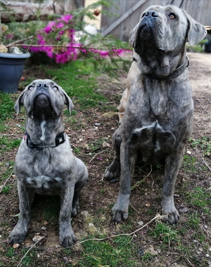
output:
<instances>
[{"instance_id":1,"label":"larger grey brindle dog sitting upright with amber eyes","mask_svg":"<svg viewBox=\"0 0 211 267\"><path fill-rule=\"evenodd\" d=\"M105 170L105 177L111 180L121 167L113 224L128 217L136 162L158 162L161 158L165 162L161 210L171 224L180 218L173 192L193 124L186 40L195 45L205 35L204 26L176 6L149 7L130 34L139 69L123 120L113 134L114 160Z\"/></svg>"}]
</instances>

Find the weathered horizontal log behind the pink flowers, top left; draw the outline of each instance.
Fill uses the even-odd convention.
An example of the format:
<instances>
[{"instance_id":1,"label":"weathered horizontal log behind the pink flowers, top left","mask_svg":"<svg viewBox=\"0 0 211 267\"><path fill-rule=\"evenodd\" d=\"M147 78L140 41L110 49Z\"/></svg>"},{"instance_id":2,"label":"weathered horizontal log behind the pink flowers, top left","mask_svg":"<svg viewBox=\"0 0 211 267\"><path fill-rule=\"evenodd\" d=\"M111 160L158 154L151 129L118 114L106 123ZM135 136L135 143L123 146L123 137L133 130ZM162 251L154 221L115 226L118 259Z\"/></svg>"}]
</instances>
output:
<instances>
[{"instance_id":1,"label":"weathered horizontal log behind the pink flowers, top left","mask_svg":"<svg viewBox=\"0 0 211 267\"><path fill-rule=\"evenodd\" d=\"M27 22L37 20L36 12L40 9L40 20L47 20L49 15L59 14L64 15L69 11L76 9L75 1L64 2L54 2L49 4L37 4L37 3L27 3L27 2L13 2L5 1L5 4L14 10L14 20L17 22ZM10 19L6 14L2 13L1 23L9 23Z\"/></svg>"}]
</instances>

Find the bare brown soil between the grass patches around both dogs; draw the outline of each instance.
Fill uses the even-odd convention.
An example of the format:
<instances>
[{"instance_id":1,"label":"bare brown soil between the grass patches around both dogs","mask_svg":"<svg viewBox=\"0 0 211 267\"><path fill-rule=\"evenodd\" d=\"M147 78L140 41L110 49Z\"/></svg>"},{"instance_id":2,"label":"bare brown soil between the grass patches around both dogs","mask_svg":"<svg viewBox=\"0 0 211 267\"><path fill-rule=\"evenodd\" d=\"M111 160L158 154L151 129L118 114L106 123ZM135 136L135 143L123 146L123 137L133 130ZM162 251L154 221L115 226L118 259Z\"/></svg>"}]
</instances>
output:
<instances>
[{"instance_id":1,"label":"bare brown soil between the grass patches around both dogs","mask_svg":"<svg viewBox=\"0 0 211 267\"><path fill-rule=\"evenodd\" d=\"M190 61L189 72L193 87L194 100L194 126L192 137L194 139L198 139L199 137L205 135L211 136L211 54L188 53L188 56ZM35 70L36 68L31 69L31 71ZM24 75L25 77L27 77L28 75L30 76L30 69L28 69ZM126 77L127 75L125 73L120 72L119 80L111 80L107 76L99 78L100 90L98 91L108 96L111 102L113 102L110 103L112 107L117 107L119 105L121 93L124 91L124 88L126 86ZM80 107L77 106L76 108L80 109ZM107 235L110 236L118 232L117 228L111 225L110 210L111 205L115 203L118 195L119 176L117 177L117 182L107 182L104 180L104 171L113 159L114 150L112 148L112 134L118 128L118 116L116 113L116 115L114 115L112 118L102 117L102 114L104 112L102 111L101 107L88 109L86 110L86 113L79 110L76 111L77 113L74 119L76 121L79 121L79 123L76 125L70 125L69 118L64 117L64 127L66 130L67 128L71 128L68 135L70 136L70 142L73 151L77 151L76 148L81 149L79 153L74 153L86 163L89 172L87 185L80 197L80 211L88 211L96 220L96 226L99 228L104 227L107 231ZM6 134L16 133L16 138L21 137L23 135L23 132L17 133L17 123L19 123L20 121L24 121L23 119L21 119L21 116L18 116L16 119L10 120L8 122L10 129L8 129ZM97 131L94 130L95 123L100 123ZM82 132L82 130L85 131ZM13 137L11 136L9 138ZM80 138L82 139L81 142L79 141ZM110 144L110 147L104 148L102 146L102 141L108 142ZM92 149L87 147L92 147ZM190 147L190 144L187 145L186 150L190 150L194 157L198 159L202 158L201 152L198 150L193 150ZM88 155L90 151L92 155ZM5 153L3 158L1 158L1 162L14 160L16 152L17 149L14 149L8 153ZM200 166L204 166L203 163L200 164ZM141 174L139 173L140 167L142 168ZM4 167L1 171L5 171L6 168L9 167ZM160 169L153 167L152 171L150 171L150 164L148 164L147 166L140 165L136 168L132 185L135 185L137 181L142 180L149 173L150 175L145 179L145 182L142 184L142 186L136 187L132 190L130 201L132 215L129 215L129 221L132 224L131 231L139 227L137 225L138 221L143 221L145 224L155 216L157 211L159 212L160 210L159 203L161 201L163 168L161 167ZM205 183L207 183L207 185L209 186L210 174L207 175L207 171L205 172L202 169L200 170L200 168L197 174L187 174L184 170L184 167L181 167L176 182L175 194L178 194L178 191L180 191L180 188L182 188L182 186L184 185L184 180L190 181L190 183L192 183L192 186ZM193 182L191 182L191 180ZM15 184L16 181L14 178L10 178L7 183ZM10 245L7 244L7 237L18 220L18 217L12 217L19 213L19 199L16 186L13 187L9 194L1 193L0 201L2 204L0 219L1 222L7 222L5 223L5 225L1 225L0 227L1 235L4 237L3 240L1 239L1 243L5 245L4 249L6 249L10 247ZM37 249L41 249L41 252L39 254L39 258L36 258L37 263L35 262L35 265L33 266L47 266L43 263L45 261L47 261L51 266L60 266L59 264L63 264L62 259L64 252L63 250L61 250L58 244L58 221L49 220L47 225L44 224L44 221L46 221L43 217L44 209L49 203L53 201L55 201L54 198L37 197L33 205L33 214L30 228L25 242L22 245L23 247L30 247L34 244L32 238L35 234L39 233L39 235L41 236L44 235L44 238L38 243L39 246L37 246ZM176 198L175 202L177 208L179 208L181 207L181 205L184 205L185 199L183 199L182 195L180 195L178 198ZM186 203L186 207L188 208L190 213L195 210L195 207L189 205L188 203ZM149 209L152 211L152 214L149 213ZM103 212L100 210L103 210ZM103 223L98 221L98 218L102 213L106 218ZM186 215L185 213L182 213L180 220L181 225L183 222L185 222L185 220ZM83 215L81 213L76 218L72 219L72 222L74 233L78 239L87 235L86 231L84 230ZM42 230L42 227L46 227L46 229ZM119 229L121 231L121 226L119 226ZM147 230L147 228L145 228L145 230ZM146 232L137 233L137 237L135 237L134 240L139 244L139 246L141 246L142 250L149 249L148 244L150 243L152 243L153 245L152 250L155 250L156 247L160 245L159 241L150 240L146 235ZM77 257L80 258L80 249L80 246L74 247L76 254L73 254L71 256L72 263L74 263L74 257L76 259ZM19 250L17 251L18 253L20 253ZM173 248L171 248L171 251L167 254L168 257L166 257L165 260L161 262L161 266L170 266L169 264L171 264L171 262L173 262L178 256L181 256L178 257L178 260L176 260L178 264L171 266L187 266L187 261L185 261L183 255L176 254L175 256ZM201 262L202 258L204 257L203 255L200 254L197 256ZM166 255L164 254L164 256ZM14 258L13 263L11 264L10 259L8 259L6 256L4 256L1 261L4 262L5 266L8 267L15 266L14 264L17 264L18 262ZM143 266L155 266L154 264L155 263L153 263L153 265L146 264Z\"/></svg>"}]
</instances>

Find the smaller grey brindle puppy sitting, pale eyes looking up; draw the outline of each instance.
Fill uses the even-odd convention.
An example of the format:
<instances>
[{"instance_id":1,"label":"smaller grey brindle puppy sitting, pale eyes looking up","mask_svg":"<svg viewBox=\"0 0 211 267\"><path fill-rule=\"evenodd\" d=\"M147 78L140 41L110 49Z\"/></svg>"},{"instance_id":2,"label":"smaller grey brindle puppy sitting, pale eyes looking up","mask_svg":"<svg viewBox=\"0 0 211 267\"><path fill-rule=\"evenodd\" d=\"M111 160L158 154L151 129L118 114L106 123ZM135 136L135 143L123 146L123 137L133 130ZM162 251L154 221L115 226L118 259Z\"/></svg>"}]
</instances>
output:
<instances>
[{"instance_id":1,"label":"smaller grey brindle puppy sitting, pale eyes looking up","mask_svg":"<svg viewBox=\"0 0 211 267\"><path fill-rule=\"evenodd\" d=\"M15 158L20 216L9 235L12 244L20 244L25 239L35 193L60 195L59 244L68 247L76 242L71 213L76 216L79 211L78 197L88 173L84 163L73 155L64 132L64 104L71 112L70 97L51 80L33 81L15 103L17 115L24 105L27 119L26 133Z\"/></svg>"}]
</instances>

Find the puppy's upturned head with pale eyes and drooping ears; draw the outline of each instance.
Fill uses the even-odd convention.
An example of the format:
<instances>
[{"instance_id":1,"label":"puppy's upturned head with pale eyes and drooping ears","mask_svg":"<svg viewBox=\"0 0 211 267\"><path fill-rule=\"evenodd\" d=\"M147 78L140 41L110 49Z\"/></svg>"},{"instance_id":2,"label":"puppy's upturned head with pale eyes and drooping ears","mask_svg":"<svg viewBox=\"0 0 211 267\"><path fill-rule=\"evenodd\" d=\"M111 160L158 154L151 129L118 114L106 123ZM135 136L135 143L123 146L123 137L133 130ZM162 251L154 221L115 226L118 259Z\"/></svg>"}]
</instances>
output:
<instances>
[{"instance_id":1,"label":"puppy's upturned head with pale eyes and drooping ears","mask_svg":"<svg viewBox=\"0 0 211 267\"><path fill-rule=\"evenodd\" d=\"M34 115L58 117L62 114L64 104L67 105L70 113L74 106L62 87L48 79L34 80L21 93L14 109L18 115L21 105L24 105L30 117Z\"/></svg>"}]
</instances>

